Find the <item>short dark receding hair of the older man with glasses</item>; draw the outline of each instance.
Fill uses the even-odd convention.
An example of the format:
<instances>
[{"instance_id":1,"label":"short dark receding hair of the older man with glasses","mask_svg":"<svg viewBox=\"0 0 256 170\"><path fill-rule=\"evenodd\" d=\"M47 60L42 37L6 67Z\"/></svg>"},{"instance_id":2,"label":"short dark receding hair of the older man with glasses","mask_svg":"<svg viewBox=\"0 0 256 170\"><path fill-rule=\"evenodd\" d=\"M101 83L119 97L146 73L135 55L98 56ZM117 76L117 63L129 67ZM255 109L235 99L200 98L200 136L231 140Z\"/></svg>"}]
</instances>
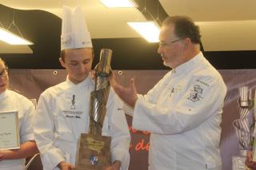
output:
<instances>
[{"instance_id":1,"label":"short dark receding hair of the older man with glasses","mask_svg":"<svg viewBox=\"0 0 256 170\"><path fill-rule=\"evenodd\" d=\"M199 44L201 42L199 27L196 26L193 20L186 16L168 17L162 22L162 26L174 25L174 34L178 38L190 38L191 42Z\"/></svg>"}]
</instances>

